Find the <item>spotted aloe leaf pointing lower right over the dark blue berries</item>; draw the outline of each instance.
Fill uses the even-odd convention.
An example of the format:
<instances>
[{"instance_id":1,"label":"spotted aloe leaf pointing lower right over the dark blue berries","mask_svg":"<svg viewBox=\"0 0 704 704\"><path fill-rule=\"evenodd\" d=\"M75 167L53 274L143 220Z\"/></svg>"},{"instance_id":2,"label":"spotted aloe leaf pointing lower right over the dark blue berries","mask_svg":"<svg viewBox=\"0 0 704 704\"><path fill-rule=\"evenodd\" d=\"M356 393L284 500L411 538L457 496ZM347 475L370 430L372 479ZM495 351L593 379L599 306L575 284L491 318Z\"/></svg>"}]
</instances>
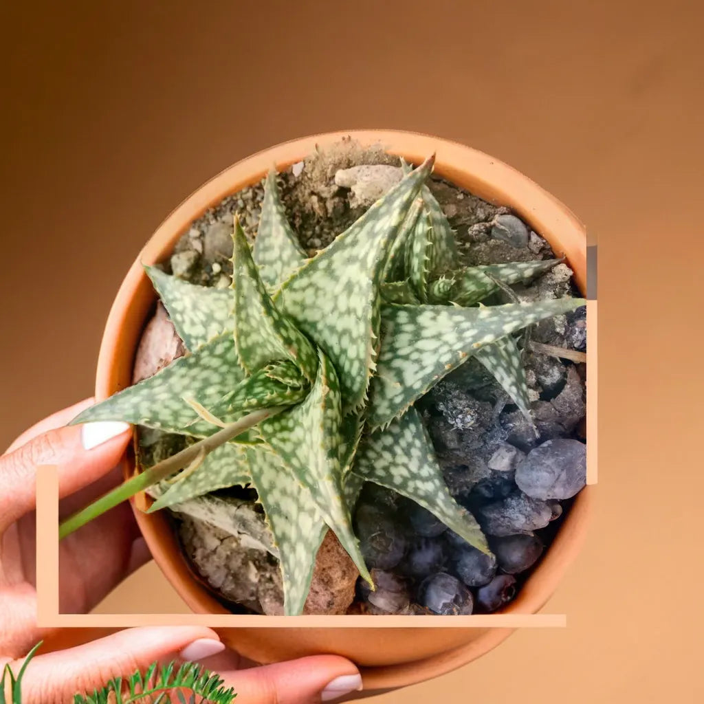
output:
<instances>
[{"instance_id":1,"label":"spotted aloe leaf pointing lower right over the dark blue berries","mask_svg":"<svg viewBox=\"0 0 704 704\"><path fill-rule=\"evenodd\" d=\"M384 430L365 436L353 472L419 503L470 545L489 553L486 538L472 514L452 498L443 479L427 430L415 408Z\"/></svg>"}]
</instances>

